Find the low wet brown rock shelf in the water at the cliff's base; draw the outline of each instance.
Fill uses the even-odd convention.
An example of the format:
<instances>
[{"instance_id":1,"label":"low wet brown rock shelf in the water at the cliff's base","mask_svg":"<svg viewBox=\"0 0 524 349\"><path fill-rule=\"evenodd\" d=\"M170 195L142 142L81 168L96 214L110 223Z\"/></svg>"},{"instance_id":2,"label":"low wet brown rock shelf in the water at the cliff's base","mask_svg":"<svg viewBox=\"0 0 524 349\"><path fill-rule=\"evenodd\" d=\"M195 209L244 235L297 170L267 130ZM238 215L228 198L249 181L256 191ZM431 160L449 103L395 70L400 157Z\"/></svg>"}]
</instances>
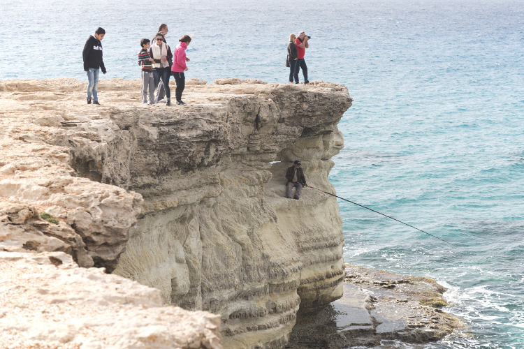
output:
<instances>
[{"instance_id":1,"label":"low wet brown rock shelf in the water at the cliff's base","mask_svg":"<svg viewBox=\"0 0 524 349\"><path fill-rule=\"evenodd\" d=\"M446 290L422 276L346 264L344 295L316 311L300 312L286 348L381 346L438 341L465 325L442 311Z\"/></svg>"}]
</instances>

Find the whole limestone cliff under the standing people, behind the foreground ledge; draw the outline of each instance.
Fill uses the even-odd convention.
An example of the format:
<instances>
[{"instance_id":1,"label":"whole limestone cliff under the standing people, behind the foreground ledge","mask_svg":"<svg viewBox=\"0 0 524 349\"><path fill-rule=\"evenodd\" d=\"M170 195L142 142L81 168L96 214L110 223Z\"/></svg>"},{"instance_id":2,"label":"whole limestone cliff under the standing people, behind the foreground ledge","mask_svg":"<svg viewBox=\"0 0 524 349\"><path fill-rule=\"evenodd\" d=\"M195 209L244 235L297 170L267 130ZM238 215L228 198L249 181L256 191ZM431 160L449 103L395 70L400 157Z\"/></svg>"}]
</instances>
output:
<instances>
[{"instance_id":1,"label":"whole limestone cliff under the standing people, behind the foreground ledge","mask_svg":"<svg viewBox=\"0 0 524 349\"><path fill-rule=\"evenodd\" d=\"M227 348L280 347L299 306L342 295L337 202L284 198L284 173L300 158L333 191L345 87L189 80L184 107L138 104L136 81L101 82L100 107L84 89L1 84L0 248L64 251L217 313Z\"/></svg>"}]
</instances>

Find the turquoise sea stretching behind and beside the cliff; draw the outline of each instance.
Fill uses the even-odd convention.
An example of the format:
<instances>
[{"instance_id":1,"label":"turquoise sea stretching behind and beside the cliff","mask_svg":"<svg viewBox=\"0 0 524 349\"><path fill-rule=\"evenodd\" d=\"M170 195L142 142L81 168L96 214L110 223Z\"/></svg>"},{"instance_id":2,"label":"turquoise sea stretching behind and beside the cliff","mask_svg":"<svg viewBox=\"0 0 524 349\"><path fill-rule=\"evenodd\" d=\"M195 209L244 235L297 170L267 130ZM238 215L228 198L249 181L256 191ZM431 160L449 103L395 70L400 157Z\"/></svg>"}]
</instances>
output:
<instances>
[{"instance_id":1,"label":"turquoise sea stretching behind and beside the cliff","mask_svg":"<svg viewBox=\"0 0 524 349\"><path fill-rule=\"evenodd\" d=\"M0 17L2 80L86 80L82 47L99 26L102 78L138 78L140 38L166 22L170 44L194 34L187 77L286 82L287 38L305 30L310 80L354 98L337 194L456 244L340 202L347 262L436 279L469 325L383 347L524 348L522 0L2 0Z\"/></svg>"}]
</instances>

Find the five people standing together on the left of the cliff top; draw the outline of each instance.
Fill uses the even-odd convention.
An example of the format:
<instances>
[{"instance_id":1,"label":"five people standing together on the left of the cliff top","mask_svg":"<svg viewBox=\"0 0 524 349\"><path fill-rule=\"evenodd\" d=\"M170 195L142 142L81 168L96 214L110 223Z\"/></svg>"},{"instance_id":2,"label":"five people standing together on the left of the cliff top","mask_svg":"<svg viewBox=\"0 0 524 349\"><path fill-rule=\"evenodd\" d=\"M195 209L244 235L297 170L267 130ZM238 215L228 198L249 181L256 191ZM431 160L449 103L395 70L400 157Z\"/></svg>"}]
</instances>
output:
<instances>
[{"instance_id":1,"label":"five people standing together on the left of the cliff top","mask_svg":"<svg viewBox=\"0 0 524 349\"><path fill-rule=\"evenodd\" d=\"M169 88L169 78L175 77L177 88L175 97L178 105L184 105L182 92L185 88L187 71L186 57L187 45L191 43L191 36L184 35L180 38L180 43L172 52L171 47L166 41L168 34L167 24L160 24L159 31L153 40L143 38L140 40L142 50L138 53L138 64L142 68L142 102L146 105L156 105L159 101L166 99L166 105L171 105L171 90ZM99 73L107 73L103 64L102 43L105 30L97 28L94 36L89 36L82 58L84 60L84 71L87 73L87 104L100 105L98 98ZM155 94L156 91L156 94ZM149 102L147 97L149 96Z\"/></svg>"}]
</instances>

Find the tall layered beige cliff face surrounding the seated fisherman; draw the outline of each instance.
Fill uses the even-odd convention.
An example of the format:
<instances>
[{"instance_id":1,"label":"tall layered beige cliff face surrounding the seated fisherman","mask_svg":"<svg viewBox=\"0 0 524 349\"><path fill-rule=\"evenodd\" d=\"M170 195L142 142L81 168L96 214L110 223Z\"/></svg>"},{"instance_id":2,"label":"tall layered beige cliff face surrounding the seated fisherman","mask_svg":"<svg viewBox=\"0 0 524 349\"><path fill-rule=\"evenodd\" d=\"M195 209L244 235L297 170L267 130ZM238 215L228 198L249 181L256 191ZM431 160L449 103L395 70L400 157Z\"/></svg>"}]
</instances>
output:
<instances>
[{"instance_id":1,"label":"tall layered beige cliff face surrounding the seated fisherman","mask_svg":"<svg viewBox=\"0 0 524 349\"><path fill-rule=\"evenodd\" d=\"M228 348L279 348L299 306L342 295L337 202L307 188L284 198L284 174L300 158L310 184L333 191L336 124L351 99L333 84L223 80L186 100L130 128L139 162L119 185L143 195L144 212L115 272L221 314Z\"/></svg>"}]
</instances>

